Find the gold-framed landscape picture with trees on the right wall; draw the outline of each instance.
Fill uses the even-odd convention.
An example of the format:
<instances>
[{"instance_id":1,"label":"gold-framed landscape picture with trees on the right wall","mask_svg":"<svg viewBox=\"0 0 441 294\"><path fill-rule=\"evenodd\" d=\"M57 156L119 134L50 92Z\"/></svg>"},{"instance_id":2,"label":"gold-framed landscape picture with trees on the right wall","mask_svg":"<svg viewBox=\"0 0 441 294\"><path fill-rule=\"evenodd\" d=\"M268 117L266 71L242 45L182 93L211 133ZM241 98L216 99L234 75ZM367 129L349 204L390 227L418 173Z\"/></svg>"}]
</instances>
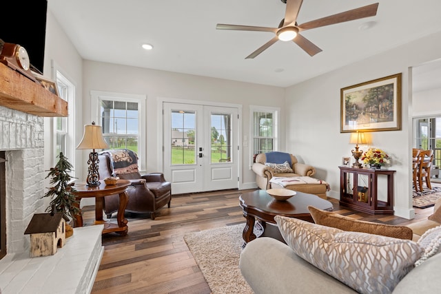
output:
<instances>
[{"instance_id":1,"label":"gold-framed landscape picture with trees on the right wall","mask_svg":"<svg viewBox=\"0 0 441 294\"><path fill-rule=\"evenodd\" d=\"M340 133L401 129L401 73L340 90Z\"/></svg>"}]
</instances>

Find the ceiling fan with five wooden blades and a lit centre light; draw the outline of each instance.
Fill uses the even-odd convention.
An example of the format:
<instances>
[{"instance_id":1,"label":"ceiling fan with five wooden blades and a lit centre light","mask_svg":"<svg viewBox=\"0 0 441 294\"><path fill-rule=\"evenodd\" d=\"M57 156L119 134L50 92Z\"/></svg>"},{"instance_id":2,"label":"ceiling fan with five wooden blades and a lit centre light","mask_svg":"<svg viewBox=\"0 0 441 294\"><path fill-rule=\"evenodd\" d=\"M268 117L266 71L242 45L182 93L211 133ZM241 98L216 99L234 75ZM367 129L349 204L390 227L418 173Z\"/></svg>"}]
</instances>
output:
<instances>
[{"instance_id":1,"label":"ceiling fan with five wooden blades and a lit centre light","mask_svg":"<svg viewBox=\"0 0 441 294\"><path fill-rule=\"evenodd\" d=\"M276 36L269 40L263 46L258 48L252 54L249 54L245 59L254 59L258 54L265 51L269 46L276 43L276 41L293 41L300 48L305 50L310 56L314 56L319 52L322 52L314 43L306 39L300 34L304 30L311 30L314 28L320 28L325 25L334 25L336 23L344 23L345 21L353 21L356 19L363 19L365 17L373 17L377 14L378 3L373 3L368 6L363 6L353 10L347 10L338 14L330 15L329 17L322 17L314 21L308 21L298 25L296 20L303 0L281 0L287 4L285 10L285 18L280 21L278 28L256 27L252 25L227 25L218 23L216 25L217 30L247 30L247 31L259 31L259 32L274 32Z\"/></svg>"}]
</instances>

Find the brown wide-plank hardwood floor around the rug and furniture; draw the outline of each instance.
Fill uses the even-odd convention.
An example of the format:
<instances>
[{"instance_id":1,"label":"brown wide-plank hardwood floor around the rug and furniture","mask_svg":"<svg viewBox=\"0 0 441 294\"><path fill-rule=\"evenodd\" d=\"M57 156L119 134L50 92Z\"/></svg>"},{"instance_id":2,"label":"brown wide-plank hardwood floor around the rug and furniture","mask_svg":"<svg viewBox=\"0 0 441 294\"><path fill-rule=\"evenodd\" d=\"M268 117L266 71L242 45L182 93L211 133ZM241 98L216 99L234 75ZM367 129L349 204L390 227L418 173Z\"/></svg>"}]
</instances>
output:
<instances>
[{"instance_id":1,"label":"brown wide-plank hardwood floor around the rug and furniture","mask_svg":"<svg viewBox=\"0 0 441 294\"><path fill-rule=\"evenodd\" d=\"M92 293L210 293L183 236L245 222L238 204L244 191L227 190L190 193L172 198L172 207L158 211L155 220L148 214L126 213L129 232L103 235L105 251ZM369 215L353 211L329 198L334 211L359 220L385 224L409 224L433 213L433 207L416 209L416 218L406 220L391 215ZM94 220L94 207L83 207L86 225ZM116 221L112 218L112 222Z\"/></svg>"}]
</instances>

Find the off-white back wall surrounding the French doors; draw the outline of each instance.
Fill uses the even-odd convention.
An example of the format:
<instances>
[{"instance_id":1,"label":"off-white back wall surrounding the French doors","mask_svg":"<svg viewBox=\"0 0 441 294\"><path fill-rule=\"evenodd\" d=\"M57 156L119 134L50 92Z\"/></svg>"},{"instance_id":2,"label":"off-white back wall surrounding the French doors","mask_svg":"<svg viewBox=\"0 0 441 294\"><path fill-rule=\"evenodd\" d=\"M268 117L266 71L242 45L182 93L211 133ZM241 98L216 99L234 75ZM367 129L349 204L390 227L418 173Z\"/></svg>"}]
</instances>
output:
<instances>
[{"instance_id":1,"label":"off-white back wall surrounding the French doors","mask_svg":"<svg viewBox=\"0 0 441 294\"><path fill-rule=\"evenodd\" d=\"M281 117L285 116L285 90L281 87L227 81L190 74L178 74L161 70L148 70L139 67L114 65L96 61L83 63L83 121L90 123L90 91L107 91L147 96L147 172L161 171L162 145L158 143L158 129L162 116L158 113L158 99L177 99L179 101L201 101L204 103L232 103L243 106L242 136L249 134L249 105L263 105L281 108ZM159 105L161 106L161 105ZM283 135L284 121L280 125ZM243 138L240 140L243 141ZM249 144L251 141L249 139ZM240 142L241 145L241 142ZM285 146L282 136L280 146ZM252 162L250 147L242 147L243 176L240 187L256 187L254 173L249 169ZM83 168L84 169L84 168Z\"/></svg>"}]
</instances>

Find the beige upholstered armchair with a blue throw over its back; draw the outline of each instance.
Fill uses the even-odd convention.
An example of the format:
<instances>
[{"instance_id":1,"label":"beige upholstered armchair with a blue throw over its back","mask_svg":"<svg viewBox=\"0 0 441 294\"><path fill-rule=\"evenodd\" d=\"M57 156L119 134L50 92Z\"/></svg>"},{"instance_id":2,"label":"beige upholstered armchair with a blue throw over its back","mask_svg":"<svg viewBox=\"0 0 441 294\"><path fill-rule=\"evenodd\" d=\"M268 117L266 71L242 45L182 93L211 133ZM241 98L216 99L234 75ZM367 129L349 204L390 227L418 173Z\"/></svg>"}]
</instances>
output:
<instances>
[{"instance_id":1,"label":"beige upholstered armchair with a blue throw over its back","mask_svg":"<svg viewBox=\"0 0 441 294\"><path fill-rule=\"evenodd\" d=\"M286 161L288 162L287 165L289 165L291 171L286 169L286 166L283 166ZM265 165L265 163L267 163L267 165ZM260 189L264 190L271 189L271 183L269 180L274 176L314 176L314 174L316 174L316 169L311 165L305 165L304 163L298 162L296 156L292 154L278 151L258 154L252 169L256 174L256 184Z\"/></svg>"}]
</instances>

